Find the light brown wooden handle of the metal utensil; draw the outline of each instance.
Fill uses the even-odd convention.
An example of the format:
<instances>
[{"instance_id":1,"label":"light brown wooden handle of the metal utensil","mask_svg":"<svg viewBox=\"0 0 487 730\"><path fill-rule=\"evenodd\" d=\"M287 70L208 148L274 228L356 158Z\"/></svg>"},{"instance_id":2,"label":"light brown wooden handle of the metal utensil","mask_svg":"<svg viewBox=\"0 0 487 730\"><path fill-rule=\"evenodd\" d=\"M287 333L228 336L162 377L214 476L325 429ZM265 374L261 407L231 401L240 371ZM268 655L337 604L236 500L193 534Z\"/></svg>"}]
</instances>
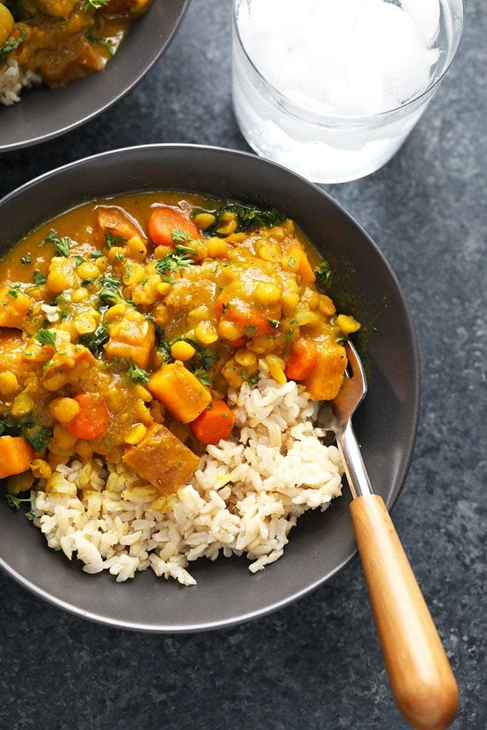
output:
<instances>
[{"instance_id":1,"label":"light brown wooden handle of the metal utensil","mask_svg":"<svg viewBox=\"0 0 487 730\"><path fill-rule=\"evenodd\" d=\"M378 494L350 503L365 580L391 688L418 730L444 730L459 692L431 614Z\"/></svg>"}]
</instances>

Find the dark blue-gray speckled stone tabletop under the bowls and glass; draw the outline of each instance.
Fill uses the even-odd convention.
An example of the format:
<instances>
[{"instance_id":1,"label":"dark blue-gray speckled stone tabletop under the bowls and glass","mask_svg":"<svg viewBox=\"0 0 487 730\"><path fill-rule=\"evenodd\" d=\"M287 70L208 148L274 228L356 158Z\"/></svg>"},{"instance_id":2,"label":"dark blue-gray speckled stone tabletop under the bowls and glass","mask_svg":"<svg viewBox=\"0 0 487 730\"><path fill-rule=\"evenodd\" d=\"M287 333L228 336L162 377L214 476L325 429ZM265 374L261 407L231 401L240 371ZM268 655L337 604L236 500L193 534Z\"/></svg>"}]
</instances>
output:
<instances>
[{"instance_id":1,"label":"dark blue-gray speckled stone tabletop under the bowls and glass","mask_svg":"<svg viewBox=\"0 0 487 730\"><path fill-rule=\"evenodd\" d=\"M459 681L455 730L487 725L484 5L467 0L456 63L396 158L365 180L326 187L388 257L418 328L421 423L394 520ZM175 42L130 96L64 138L0 156L0 193L113 147L248 149L231 113L230 6L193 0ZM406 727L358 561L288 609L213 634L85 623L4 575L0 596L2 730Z\"/></svg>"}]
</instances>

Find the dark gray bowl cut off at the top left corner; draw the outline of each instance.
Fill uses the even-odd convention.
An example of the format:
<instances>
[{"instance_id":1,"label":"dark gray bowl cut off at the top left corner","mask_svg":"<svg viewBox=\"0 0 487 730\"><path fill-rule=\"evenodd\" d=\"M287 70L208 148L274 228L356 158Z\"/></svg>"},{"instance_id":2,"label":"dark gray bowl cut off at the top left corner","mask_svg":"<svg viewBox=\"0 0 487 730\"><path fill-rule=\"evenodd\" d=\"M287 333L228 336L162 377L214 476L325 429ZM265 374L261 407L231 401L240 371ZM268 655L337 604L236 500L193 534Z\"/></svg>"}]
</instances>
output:
<instances>
[{"instance_id":1,"label":"dark gray bowl cut off at the top left corner","mask_svg":"<svg viewBox=\"0 0 487 730\"><path fill-rule=\"evenodd\" d=\"M58 89L26 89L18 104L0 105L0 152L57 137L115 104L164 53L188 6L189 0L153 2L103 71Z\"/></svg>"}]
</instances>

